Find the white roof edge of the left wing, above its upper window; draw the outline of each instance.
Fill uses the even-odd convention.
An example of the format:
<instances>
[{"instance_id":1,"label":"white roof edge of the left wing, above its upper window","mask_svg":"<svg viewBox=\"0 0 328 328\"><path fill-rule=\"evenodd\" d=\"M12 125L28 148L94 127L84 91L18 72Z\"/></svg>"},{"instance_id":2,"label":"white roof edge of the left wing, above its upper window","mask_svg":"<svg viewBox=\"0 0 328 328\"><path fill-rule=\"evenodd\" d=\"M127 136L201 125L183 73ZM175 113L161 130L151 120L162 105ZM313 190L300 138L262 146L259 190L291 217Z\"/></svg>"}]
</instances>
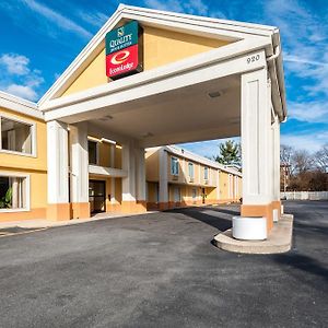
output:
<instances>
[{"instance_id":1,"label":"white roof edge of the left wing, above its upper window","mask_svg":"<svg viewBox=\"0 0 328 328\"><path fill-rule=\"evenodd\" d=\"M0 107L8 108L20 114L44 119L44 114L37 108L37 104L21 97L0 91Z\"/></svg>"}]
</instances>

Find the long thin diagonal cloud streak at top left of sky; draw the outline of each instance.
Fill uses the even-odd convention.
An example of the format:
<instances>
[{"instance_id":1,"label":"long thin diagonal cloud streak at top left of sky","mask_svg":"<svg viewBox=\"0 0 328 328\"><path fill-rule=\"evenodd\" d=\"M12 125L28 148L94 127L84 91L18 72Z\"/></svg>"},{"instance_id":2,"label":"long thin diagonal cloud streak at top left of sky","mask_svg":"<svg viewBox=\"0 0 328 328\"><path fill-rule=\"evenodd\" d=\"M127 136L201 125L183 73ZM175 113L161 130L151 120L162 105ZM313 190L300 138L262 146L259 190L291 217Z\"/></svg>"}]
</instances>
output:
<instances>
[{"instance_id":1,"label":"long thin diagonal cloud streak at top left of sky","mask_svg":"<svg viewBox=\"0 0 328 328\"><path fill-rule=\"evenodd\" d=\"M49 7L38 3L37 1L34 0L22 0L22 2L35 13L42 15L47 21L56 24L59 28L66 30L68 32L73 32L74 34L83 38L92 37L92 34L89 31L86 31L84 27L78 25L72 20L63 16L62 14L56 12Z\"/></svg>"}]
</instances>

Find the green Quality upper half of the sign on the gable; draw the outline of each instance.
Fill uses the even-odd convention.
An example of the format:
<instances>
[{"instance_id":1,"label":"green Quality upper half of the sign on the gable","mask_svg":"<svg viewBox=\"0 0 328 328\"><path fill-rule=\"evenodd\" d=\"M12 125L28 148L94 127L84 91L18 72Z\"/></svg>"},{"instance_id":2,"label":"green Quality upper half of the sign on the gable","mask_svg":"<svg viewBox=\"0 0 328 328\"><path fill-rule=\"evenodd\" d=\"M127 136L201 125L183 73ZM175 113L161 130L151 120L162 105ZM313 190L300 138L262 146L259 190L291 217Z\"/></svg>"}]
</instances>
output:
<instances>
[{"instance_id":1,"label":"green Quality upper half of the sign on the gable","mask_svg":"<svg viewBox=\"0 0 328 328\"><path fill-rule=\"evenodd\" d=\"M106 34L106 55L138 44L138 22L132 21Z\"/></svg>"}]
</instances>

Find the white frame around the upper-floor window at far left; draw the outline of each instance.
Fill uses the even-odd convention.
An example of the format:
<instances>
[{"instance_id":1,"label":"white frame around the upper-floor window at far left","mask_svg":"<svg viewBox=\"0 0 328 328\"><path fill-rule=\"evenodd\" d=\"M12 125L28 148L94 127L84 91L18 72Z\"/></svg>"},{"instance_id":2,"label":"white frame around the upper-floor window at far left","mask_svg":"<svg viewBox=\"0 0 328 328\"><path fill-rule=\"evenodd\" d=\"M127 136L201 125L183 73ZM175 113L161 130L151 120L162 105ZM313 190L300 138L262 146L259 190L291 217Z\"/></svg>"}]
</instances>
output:
<instances>
[{"instance_id":1,"label":"white frame around the upper-floor window at far left","mask_svg":"<svg viewBox=\"0 0 328 328\"><path fill-rule=\"evenodd\" d=\"M37 157L37 144L36 144L37 143L37 138L36 138L37 129L36 129L36 122L31 121L28 119L12 117L11 115L8 115L7 113L4 113L4 114L0 113L0 131L1 131L1 118L2 117L31 127L30 131L31 131L31 134L32 134L31 136L32 153L23 153L23 152L19 152L19 151L2 149L2 133L0 134L0 153L20 155L20 156L27 156L27 157Z\"/></svg>"}]
</instances>

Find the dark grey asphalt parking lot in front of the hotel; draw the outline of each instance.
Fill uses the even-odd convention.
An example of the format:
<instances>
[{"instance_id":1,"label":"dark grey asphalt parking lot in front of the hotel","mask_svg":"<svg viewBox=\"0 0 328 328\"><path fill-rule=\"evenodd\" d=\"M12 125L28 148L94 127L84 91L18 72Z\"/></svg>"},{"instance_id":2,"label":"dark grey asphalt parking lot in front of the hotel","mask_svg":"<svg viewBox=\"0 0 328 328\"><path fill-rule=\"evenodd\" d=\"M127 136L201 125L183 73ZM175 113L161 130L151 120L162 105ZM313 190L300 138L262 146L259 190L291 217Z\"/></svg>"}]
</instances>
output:
<instances>
[{"instance_id":1,"label":"dark grey asphalt parking lot in front of the hotel","mask_svg":"<svg viewBox=\"0 0 328 328\"><path fill-rule=\"evenodd\" d=\"M211 244L237 207L0 237L1 327L327 327L328 202L288 202L282 255Z\"/></svg>"}]
</instances>

